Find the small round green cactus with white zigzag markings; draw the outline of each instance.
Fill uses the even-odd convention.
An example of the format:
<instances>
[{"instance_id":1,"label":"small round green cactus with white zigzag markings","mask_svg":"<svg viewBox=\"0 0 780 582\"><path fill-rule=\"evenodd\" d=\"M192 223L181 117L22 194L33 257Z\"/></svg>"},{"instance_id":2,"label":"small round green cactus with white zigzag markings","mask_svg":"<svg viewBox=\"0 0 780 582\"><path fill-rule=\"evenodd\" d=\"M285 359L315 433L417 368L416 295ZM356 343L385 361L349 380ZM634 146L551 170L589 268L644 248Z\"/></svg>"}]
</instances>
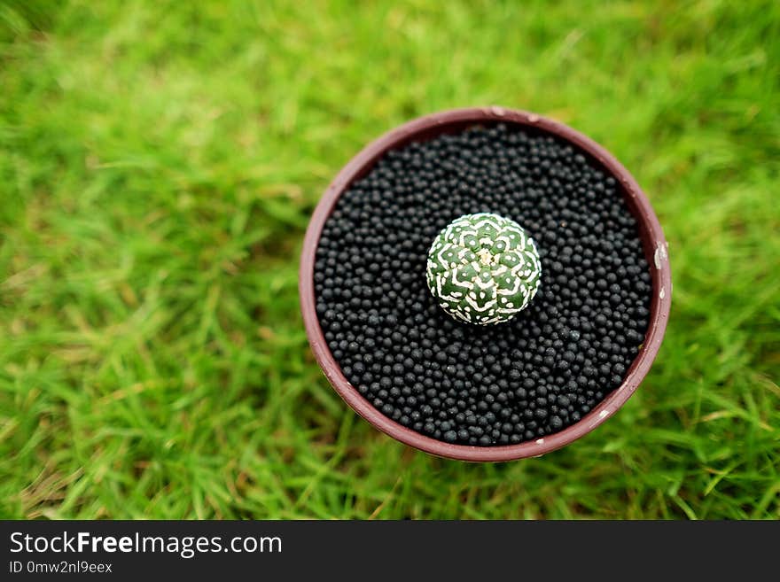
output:
<instances>
[{"instance_id":1,"label":"small round green cactus with white zigzag markings","mask_svg":"<svg viewBox=\"0 0 780 582\"><path fill-rule=\"evenodd\" d=\"M507 322L534 299L542 263L534 240L498 214L466 214L449 223L428 251L425 278L437 303L456 319Z\"/></svg>"}]
</instances>

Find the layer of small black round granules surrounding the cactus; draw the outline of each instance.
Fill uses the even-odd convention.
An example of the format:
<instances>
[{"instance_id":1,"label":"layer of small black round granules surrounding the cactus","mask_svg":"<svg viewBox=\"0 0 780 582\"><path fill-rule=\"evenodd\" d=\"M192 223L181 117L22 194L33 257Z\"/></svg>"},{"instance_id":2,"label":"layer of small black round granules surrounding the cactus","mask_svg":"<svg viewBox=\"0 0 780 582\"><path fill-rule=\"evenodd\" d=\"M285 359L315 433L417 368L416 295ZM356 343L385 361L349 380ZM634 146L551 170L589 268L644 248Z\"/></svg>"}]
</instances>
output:
<instances>
[{"instance_id":1,"label":"layer of small black round granules surrounding the cactus","mask_svg":"<svg viewBox=\"0 0 780 582\"><path fill-rule=\"evenodd\" d=\"M497 213L534 237L542 284L511 322L456 322L425 283L433 237ZM576 423L644 342L651 277L615 180L551 136L472 128L389 151L339 199L315 265L333 358L384 415L494 446Z\"/></svg>"}]
</instances>

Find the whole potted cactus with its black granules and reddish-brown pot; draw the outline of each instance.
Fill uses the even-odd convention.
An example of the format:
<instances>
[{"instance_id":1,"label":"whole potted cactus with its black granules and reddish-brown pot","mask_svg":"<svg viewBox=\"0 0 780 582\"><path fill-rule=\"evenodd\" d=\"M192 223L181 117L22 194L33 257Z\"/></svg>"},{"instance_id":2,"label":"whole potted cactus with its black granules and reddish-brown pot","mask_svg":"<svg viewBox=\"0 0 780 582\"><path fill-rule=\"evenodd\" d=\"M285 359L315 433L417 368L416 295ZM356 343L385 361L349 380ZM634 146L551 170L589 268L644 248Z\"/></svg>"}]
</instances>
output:
<instances>
[{"instance_id":1,"label":"whole potted cactus with its black granules and reddish-brown pot","mask_svg":"<svg viewBox=\"0 0 780 582\"><path fill-rule=\"evenodd\" d=\"M380 431L465 461L538 456L636 390L666 329L667 243L586 136L501 107L359 152L309 223L300 301L325 376Z\"/></svg>"}]
</instances>

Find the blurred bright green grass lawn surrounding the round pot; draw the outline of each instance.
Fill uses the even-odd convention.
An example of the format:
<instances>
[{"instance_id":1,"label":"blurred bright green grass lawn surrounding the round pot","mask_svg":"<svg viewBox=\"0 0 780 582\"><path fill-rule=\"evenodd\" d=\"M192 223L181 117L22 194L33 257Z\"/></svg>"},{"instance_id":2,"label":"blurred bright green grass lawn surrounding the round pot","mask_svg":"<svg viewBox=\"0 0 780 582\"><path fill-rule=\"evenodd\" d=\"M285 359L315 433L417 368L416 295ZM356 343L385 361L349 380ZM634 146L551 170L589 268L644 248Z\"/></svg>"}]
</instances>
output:
<instances>
[{"instance_id":1,"label":"blurred bright green grass lawn surrounding the round pot","mask_svg":"<svg viewBox=\"0 0 780 582\"><path fill-rule=\"evenodd\" d=\"M617 415L478 465L339 400L297 264L363 144L489 104L614 152L675 288ZM772 1L0 3L0 516L780 518L778 179Z\"/></svg>"}]
</instances>

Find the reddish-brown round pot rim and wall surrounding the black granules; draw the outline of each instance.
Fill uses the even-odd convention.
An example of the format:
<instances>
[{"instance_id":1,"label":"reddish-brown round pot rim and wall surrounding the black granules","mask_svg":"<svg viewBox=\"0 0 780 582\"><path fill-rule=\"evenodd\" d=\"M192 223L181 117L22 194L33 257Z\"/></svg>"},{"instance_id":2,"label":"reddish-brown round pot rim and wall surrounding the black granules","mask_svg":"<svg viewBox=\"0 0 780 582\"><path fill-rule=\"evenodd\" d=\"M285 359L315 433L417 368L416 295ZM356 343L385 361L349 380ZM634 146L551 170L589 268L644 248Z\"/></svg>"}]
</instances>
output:
<instances>
[{"instance_id":1,"label":"reddish-brown round pot rim and wall surrounding the black granules","mask_svg":"<svg viewBox=\"0 0 780 582\"><path fill-rule=\"evenodd\" d=\"M645 335L642 349L628 369L628 374L623 384L617 390L610 392L605 400L598 404L588 415L581 418L578 423L574 423L566 429L544 438L527 441L519 445L453 445L435 438L426 437L402 424L394 422L363 398L360 392L355 389L355 386L349 384L347 378L341 372L339 364L333 360L331 350L325 342L323 330L320 328L316 314L314 291L316 247L319 243L324 222L331 214L339 196L349 188L352 182L368 173L386 151L402 147L410 142L425 141L444 133L456 133L470 126L490 126L497 123L518 126L536 134L558 136L558 138L573 144L581 151L585 151L593 161L617 180L630 212L636 217L639 236L642 238L644 245L644 255L651 268L652 299L650 325ZM456 109L425 115L417 120L409 121L399 128L388 131L384 136L379 137L363 148L363 151L360 151L355 158L351 159L347 166L331 182L311 217L306 231L306 238L303 242L303 252L300 260L300 307L303 312L303 322L306 325L309 345L311 345L316 361L319 362L325 376L327 376L336 392L339 392L341 398L346 400L347 404L355 409L355 412L363 416L379 431L385 432L406 445L414 446L426 453L442 457L460 459L462 461L511 461L513 459L549 453L593 431L599 424L604 423L607 418L613 415L628 400L631 394L636 391L639 384L642 383L659 351L664 331L667 328L672 296L672 280L669 272L667 246L668 244L664 238L658 218L653 213L650 202L644 196L636 180L609 151L606 151L602 146L589 139L589 137L583 136L562 123L545 119L541 115L534 113L512 111L498 106Z\"/></svg>"}]
</instances>

